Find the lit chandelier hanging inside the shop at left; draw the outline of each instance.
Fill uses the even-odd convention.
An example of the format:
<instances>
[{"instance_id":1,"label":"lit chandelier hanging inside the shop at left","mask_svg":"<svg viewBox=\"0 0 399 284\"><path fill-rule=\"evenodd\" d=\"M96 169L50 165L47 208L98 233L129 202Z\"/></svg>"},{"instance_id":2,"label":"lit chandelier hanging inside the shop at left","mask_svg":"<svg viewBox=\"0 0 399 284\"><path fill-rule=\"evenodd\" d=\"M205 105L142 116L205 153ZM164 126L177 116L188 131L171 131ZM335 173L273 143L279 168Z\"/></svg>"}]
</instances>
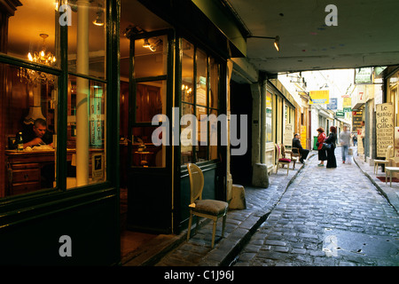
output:
<instances>
[{"instance_id":1,"label":"lit chandelier hanging inside the shop at left","mask_svg":"<svg viewBox=\"0 0 399 284\"><path fill-rule=\"evenodd\" d=\"M28 52L27 53L27 59L31 62L47 65L50 67L53 67L56 64L56 58L54 55L51 54L51 52L46 52L46 43L45 40L49 35L46 34L40 34L40 36L43 38L43 47L42 51L35 51L32 53ZM27 69L24 67L20 67L20 70L18 71L18 76L20 77L20 80L23 81L25 80L27 83L54 83L54 76L41 72L41 71L35 71L32 69Z\"/></svg>"}]
</instances>

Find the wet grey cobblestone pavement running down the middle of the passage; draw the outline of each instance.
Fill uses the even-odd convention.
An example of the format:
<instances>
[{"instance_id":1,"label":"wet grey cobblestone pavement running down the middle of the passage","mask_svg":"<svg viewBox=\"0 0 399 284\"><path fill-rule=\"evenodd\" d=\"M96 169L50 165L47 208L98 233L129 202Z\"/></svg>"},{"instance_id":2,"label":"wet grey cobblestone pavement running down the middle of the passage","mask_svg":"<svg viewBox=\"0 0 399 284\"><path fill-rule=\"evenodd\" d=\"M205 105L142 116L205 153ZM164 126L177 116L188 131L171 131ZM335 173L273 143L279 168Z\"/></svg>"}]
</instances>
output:
<instances>
[{"instance_id":1,"label":"wet grey cobblestone pavement running down the middle of the passage","mask_svg":"<svg viewBox=\"0 0 399 284\"><path fill-rule=\"evenodd\" d=\"M309 159L235 266L399 265L399 215L356 163Z\"/></svg>"}]
</instances>

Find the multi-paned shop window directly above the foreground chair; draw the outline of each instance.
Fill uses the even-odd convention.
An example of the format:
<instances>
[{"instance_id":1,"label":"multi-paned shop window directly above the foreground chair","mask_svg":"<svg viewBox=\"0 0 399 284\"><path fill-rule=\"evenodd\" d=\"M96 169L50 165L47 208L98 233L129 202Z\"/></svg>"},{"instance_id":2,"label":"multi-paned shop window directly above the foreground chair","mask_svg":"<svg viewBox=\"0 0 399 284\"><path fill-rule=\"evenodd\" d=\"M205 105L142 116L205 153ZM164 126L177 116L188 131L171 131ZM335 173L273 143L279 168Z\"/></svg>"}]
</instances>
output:
<instances>
[{"instance_id":1,"label":"multi-paned shop window directly above the foreground chair","mask_svg":"<svg viewBox=\"0 0 399 284\"><path fill-rule=\"evenodd\" d=\"M218 158L217 123L219 111L220 65L207 52L182 40L181 115L195 120L181 123L181 164Z\"/></svg>"}]
</instances>

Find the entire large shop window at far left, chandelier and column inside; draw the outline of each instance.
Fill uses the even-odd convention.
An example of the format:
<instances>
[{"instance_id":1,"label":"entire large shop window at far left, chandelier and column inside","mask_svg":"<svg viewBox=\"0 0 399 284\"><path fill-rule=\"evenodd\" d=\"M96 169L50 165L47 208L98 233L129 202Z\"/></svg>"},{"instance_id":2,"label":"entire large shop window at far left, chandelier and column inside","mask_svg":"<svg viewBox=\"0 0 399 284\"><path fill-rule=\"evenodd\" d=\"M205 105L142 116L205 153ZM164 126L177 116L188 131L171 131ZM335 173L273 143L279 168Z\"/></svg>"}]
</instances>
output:
<instances>
[{"instance_id":1,"label":"entire large shop window at far left, chandelier and column inside","mask_svg":"<svg viewBox=\"0 0 399 284\"><path fill-rule=\"evenodd\" d=\"M6 171L0 197L58 187L59 178L67 188L106 180L105 8L106 0L20 0L8 30L0 30L7 43L0 51L8 57L0 63L0 166ZM67 33L65 46L61 33ZM61 75L67 85L59 84ZM67 117L59 114L63 107ZM66 140L58 139L60 132ZM66 161L58 161L58 153L66 153ZM57 177L61 163L67 172Z\"/></svg>"}]
</instances>

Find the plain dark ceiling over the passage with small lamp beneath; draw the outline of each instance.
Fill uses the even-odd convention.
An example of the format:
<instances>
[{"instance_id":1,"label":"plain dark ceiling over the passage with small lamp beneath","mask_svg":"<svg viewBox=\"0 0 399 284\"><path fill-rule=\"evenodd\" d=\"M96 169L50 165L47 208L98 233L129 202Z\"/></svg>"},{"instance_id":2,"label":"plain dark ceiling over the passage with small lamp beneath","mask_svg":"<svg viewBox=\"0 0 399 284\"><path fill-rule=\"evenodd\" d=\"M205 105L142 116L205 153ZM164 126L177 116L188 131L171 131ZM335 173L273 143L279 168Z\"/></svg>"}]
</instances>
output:
<instances>
[{"instance_id":1,"label":"plain dark ceiling over the passage with small lamp beneath","mask_svg":"<svg viewBox=\"0 0 399 284\"><path fill-rule=\"evenodd\" d=\"M251 36L246 55L268 73L399 64L398 0L228 0ZM328 26L337 8L337 26ZM327 18L327 19L326 19Z\"/></svg>"}]
</instances>

